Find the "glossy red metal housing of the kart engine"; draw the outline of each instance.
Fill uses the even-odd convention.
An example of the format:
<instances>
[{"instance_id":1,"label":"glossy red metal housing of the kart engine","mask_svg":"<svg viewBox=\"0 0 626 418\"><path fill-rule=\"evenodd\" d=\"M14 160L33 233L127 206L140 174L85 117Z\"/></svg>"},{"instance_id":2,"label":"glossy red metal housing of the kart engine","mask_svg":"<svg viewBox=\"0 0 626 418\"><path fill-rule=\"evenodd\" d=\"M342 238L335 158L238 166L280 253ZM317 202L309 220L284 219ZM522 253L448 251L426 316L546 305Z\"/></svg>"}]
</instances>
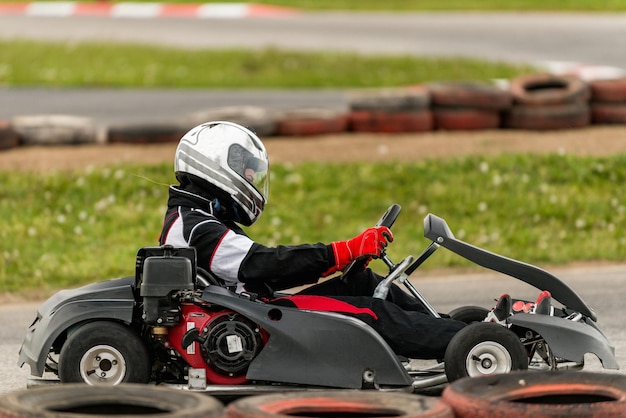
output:
<instances>
[{"instance_id":1,"label":"glossy red metal housing of the kart engine","mask_svg":"<svg viewBox=\"0 0 626 418\"><path fill-rule=\"evenodd\" d=\"M184 349L182 347L183 336L187 331L197 328L200 330L200 334L205 329L210 328L210 323L224 315L236 315L235 312L230 310L223 310L218 312L208 312L201 306L194 304L182 304L181 305L182 320L181 322L170 329L166 340L170 346L175 349L185 361L193 368L205 369L207 376L207 383L217 385L240 385L246 383L248 379L244 375L231 375L222 370L216 370L212 368L202 354L202 349L198 342L192 343L189 347ZM267 333L261 330L262 343L267 341Z\"/></svg>"}]
</instances>

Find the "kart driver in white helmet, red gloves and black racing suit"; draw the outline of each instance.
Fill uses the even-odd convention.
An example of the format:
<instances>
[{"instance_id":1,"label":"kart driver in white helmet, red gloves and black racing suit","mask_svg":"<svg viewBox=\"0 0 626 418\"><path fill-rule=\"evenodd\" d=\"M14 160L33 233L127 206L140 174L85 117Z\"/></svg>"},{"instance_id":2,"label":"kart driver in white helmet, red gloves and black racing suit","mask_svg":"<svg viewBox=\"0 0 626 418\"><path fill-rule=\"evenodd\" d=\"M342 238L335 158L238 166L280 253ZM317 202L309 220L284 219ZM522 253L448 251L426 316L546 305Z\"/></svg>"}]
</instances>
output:
<instances>
[{"instance_id":1,"label":"kart driver in white helmet, red gloves and black racing suit","mask_svg":"<svg viewBox=\"0 0 626 418\"><path fill-rule=\"evenodd\" d=\"M230 122L208 122L180 140L174 170L180 183L169 189L161 245L196 248L198 266L240 293L254 292L278 303L356 317L378 332L391 349L413 359L441 359L450 339L465 326L435 318L397 286L386 300L373 298L381 277L369 268L333 277L352 260L376 258L393 235L373 227L346 241L279 245L254 242L250 226L267 203L269 161L261 140ZM316 283L316 284L315 284ZM313 284L272 299L271 291Z\"/></svg>"}]
</instances>

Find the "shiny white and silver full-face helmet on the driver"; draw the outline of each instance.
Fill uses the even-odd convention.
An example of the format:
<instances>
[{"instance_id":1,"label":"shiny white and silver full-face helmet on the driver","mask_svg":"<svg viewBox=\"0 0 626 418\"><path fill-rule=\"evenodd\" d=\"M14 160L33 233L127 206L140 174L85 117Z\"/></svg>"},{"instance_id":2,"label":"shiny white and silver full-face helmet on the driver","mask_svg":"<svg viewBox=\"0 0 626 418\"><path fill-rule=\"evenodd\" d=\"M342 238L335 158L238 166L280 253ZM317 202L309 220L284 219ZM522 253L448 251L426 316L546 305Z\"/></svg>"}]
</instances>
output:
<instances>
[{"instance_id":1,"label":"shiny white and silver full-face helmet on the driver","mask_svg":"<svg viewBox=\"0 0 626 418\"><path fill-rule=\"evenodd\" d=\"M191 174L232 199L236 222L252 225L261 216L269 191L269 160L252 131L232 122L203 123L181 138L174 159L176 176Z\"/></svg>"}]
</instances>

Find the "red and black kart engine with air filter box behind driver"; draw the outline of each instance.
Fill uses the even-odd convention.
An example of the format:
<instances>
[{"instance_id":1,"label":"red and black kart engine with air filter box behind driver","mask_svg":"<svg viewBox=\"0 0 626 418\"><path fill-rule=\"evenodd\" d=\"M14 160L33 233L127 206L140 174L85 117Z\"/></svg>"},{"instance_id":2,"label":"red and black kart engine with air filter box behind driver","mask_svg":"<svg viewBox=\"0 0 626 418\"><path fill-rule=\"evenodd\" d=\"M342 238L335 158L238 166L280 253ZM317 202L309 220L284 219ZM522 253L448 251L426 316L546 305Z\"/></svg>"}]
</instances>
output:
<instances>
[{"instance_id":1,"label":"red and black kart engine with air filter box behind driver","mask_svg":"<svg viewBox=\"0 0 626 418\"><path fill-rule=\"evenodd\" d=\"M205 369L208 383L245 383L267 333L241 314L194 303L191 257L176 255L181 249L157 250L157 255L141 260L144 323L190 367Z\"/></svg>"}]
</instances>

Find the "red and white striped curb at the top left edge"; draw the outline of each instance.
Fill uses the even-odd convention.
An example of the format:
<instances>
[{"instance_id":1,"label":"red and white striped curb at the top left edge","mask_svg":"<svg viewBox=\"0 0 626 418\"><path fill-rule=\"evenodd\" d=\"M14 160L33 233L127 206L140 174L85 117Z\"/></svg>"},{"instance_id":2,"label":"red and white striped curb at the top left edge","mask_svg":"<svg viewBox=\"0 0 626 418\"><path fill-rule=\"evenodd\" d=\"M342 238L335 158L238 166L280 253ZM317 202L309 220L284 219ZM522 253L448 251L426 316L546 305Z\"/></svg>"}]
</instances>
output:
<instances>
[{"instance_id":1,"label":"red and white striped curb at the top left edge","mask_svg":"<svg viewBox=\"0 0 626 418\"><path fill-rule=\"evenodd\" d=\"M104 16L112 18L189 17L199 19L240 19L286 17L296 9L254 3L77 3L71 1L0 3L0 15L35 17Z\"/></svg>"}]
</instances>

